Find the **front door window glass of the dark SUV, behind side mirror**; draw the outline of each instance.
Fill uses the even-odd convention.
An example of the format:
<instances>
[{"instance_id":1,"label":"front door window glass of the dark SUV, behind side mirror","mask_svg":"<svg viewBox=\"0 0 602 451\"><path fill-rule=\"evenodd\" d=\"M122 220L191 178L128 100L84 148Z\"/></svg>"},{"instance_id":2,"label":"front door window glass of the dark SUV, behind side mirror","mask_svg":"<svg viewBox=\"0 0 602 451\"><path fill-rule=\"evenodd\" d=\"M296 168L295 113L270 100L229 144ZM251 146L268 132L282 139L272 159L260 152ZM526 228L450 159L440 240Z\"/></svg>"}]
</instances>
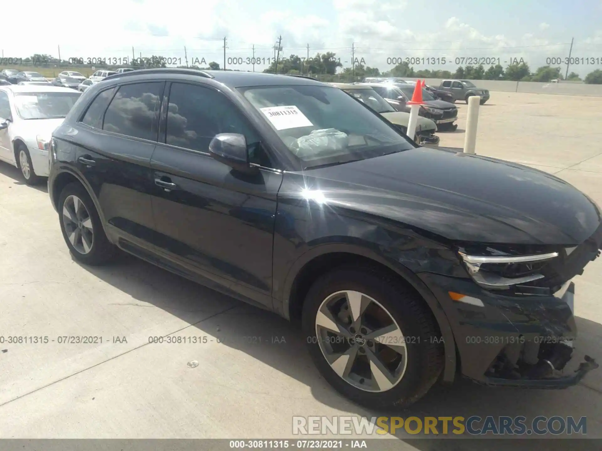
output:
<instances>
[{"instance_id":1,"label":"front door window glass of the dark SUV, behind side mirror","mask_svg":"<svg viewBox=\"0 0 602 451\"><path fill-rule=\"evenodd\" d=\"M259 135L238 108L223 94L209 88L174 83L167 108L166 143L185 149L209 151L219 133L240 133L247 140L249 161L270 167Z\"/></svg>"}]
</instances>

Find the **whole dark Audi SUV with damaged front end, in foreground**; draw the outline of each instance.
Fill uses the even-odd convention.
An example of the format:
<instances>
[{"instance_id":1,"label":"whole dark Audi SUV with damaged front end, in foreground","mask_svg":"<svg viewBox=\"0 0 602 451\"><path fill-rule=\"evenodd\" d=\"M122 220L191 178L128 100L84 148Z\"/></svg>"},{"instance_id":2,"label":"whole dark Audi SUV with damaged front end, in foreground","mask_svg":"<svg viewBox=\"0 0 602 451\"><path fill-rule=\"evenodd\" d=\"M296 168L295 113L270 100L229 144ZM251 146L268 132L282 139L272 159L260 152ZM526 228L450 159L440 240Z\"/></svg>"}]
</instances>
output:
<instances>
[{"instance_id":1,"label":"whole dark Audi SUV with damaged front end, in foreground","mask_svg":"<svg viewBox=\"0 0 602 451\"><path fill-rule=\"evenodd\" d=\"M52 135L69 250L116 248L299 322L338 391L405 406L461 374L562 388L571 279L600 209L550 174L418 147L338 88L149 69L93 85Z\"/></svg>"}]
</instances>

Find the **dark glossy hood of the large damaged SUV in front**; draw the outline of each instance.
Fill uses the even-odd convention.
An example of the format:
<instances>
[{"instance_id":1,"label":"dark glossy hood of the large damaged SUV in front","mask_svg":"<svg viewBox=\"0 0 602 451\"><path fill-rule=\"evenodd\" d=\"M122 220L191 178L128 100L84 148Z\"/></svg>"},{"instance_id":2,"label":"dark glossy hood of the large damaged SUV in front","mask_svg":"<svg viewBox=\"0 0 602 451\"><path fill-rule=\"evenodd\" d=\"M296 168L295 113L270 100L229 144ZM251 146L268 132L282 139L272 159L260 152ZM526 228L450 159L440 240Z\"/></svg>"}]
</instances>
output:
<instances>
[{"instance_id":1,"label":"dark glossy hood of the large damaged SUV in front","mask_svg":"<svg viewBox=\"0 0 602 451\"><path fill-rule=\"evenodd\" d=\"M594 201L551 174L451 150L419 147L310 169L303 177L333 209L453 241L578 245L601 220Z\"/></svg>"}]
</instances>

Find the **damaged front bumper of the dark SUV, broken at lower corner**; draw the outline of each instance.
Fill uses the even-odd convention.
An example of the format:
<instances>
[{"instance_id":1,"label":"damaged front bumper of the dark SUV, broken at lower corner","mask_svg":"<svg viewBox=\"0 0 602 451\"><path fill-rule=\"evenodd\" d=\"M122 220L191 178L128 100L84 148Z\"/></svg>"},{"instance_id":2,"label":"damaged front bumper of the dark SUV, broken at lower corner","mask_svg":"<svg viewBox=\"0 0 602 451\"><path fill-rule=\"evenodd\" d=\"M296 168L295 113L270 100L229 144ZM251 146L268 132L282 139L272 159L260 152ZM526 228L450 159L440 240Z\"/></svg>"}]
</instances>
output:
<instances>
[{"instance_id":1,"label":"damaged front bumper of the dark SUV, broken at lower corner","mask_svg":"<svg viewBox=\"0 0 602 451\"><path fill-rule=\"evenodd\" d=\"M574 283L554 295L501 295L470 279L420 275L450 321L462 375L479 384L566 388L598 364L589 356L575 370ZM462 293L452 299L450 292Z\"/></svg>"}]
</instances>

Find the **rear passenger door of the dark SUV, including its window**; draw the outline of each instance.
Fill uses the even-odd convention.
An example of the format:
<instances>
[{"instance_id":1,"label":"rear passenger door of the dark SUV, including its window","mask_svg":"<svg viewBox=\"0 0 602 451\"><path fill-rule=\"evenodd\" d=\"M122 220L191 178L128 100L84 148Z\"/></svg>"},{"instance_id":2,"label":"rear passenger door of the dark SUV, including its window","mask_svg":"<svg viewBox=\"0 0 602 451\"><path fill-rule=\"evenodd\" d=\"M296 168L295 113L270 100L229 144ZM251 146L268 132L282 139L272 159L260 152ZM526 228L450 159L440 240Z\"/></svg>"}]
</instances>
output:
<instances>
[{"instance_id":1,"label":"rear passenger door of the dark SUV, including its window","mask_svg":"<svg viewBox=\"0 0 602 451\"><path fill-rule=\"evenodd\" d=\"M138 254L153 249L151 156L164 85L137 82L101 91L78 135L78 170L99 200L108 232Z\"/></svg>"}]
</instances>

